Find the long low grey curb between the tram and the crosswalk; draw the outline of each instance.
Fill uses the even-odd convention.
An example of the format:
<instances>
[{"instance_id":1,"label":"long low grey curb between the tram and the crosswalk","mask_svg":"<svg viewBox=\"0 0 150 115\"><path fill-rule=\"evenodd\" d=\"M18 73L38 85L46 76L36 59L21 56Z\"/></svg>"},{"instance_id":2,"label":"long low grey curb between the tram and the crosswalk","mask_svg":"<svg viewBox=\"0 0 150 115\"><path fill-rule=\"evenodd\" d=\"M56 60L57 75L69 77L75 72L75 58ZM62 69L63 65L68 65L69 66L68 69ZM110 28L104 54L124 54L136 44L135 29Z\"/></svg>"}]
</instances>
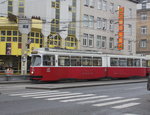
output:
<instances>
[{"instance_id":1,"label":"long low grey curb between the tram and the crosswalk","mask_svg":"<svg viewBox=\"0 0 150 115\"><path fill-rule=\"evenodd\" d=\"M131 84L131 83L142 83L147 82L147 79L144 80L132 80L132 81L111 81L111 83L108 83L107 81L103 83L81 83L81 84L56 84L55 86L30 86L25 87L26 89L45 89L45 90L56 90L56 89L68 89L68 88L80 88L80 87L94 87L94 86L105 86L105 85L118 85L118 84ZM50 84L54 85L54 84Z\"/></svg>"}]
</instances>

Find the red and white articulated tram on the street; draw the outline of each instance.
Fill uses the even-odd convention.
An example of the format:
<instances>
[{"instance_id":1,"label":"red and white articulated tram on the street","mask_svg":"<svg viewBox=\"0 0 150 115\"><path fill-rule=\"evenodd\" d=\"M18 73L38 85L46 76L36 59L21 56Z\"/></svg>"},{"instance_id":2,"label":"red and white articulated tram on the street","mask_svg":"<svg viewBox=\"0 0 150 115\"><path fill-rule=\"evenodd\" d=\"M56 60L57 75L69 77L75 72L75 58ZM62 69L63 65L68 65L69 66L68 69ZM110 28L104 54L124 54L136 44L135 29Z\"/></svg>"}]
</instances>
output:
<instances>
[{"instance_id":1,"label":"red and white articulated tram on the street","mask_svg":"<svg viewBox=\"0 0 150 115\"><path fill-rule=\"evenodd\" d=\"M37 81L145 77L146 74L144 56L49 48L36 49L30 67L31 80Z\"/></svg>"}]
</instances>

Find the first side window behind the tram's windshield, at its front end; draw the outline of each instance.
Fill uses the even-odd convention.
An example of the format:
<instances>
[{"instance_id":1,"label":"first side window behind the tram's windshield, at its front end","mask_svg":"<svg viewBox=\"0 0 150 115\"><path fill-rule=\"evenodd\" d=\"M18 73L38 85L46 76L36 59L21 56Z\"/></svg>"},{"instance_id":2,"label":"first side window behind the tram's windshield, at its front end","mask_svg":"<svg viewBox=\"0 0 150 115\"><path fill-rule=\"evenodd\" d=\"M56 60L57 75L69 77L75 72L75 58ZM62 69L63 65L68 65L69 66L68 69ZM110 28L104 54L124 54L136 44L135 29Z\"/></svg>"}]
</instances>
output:
<instances>
[{"instance_id":1,"label":"first side window behind the tram's windshield, at its front end","mask_svg":"<svg viewBox=\"0 0 150 115\"><path fill-rule=\"evenodd\" d=\"M43 56L43 66L55 66L55 56L54 55L44 55Z\"/></svg>"}]
</instances>

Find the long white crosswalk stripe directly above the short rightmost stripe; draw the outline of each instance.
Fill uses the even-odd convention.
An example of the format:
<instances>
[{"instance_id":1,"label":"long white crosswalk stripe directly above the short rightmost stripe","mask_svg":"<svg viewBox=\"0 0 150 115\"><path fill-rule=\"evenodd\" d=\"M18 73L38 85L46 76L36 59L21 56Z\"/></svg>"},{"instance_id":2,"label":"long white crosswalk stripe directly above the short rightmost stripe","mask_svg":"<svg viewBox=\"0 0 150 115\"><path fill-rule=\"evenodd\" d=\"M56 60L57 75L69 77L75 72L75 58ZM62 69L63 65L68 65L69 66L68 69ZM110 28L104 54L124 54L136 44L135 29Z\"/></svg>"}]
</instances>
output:
<instances>
[{"instance_id":1,"label":"long white crosswalk stripe directly above the short rightmost stripe","mask_svg":"<svg viewBox=\"0 0 150 115\"><path fill-rule=\"evenodd\" d=\"M93 106L102 107L102 106L107 106L107 105L113 105L113 104L123 103L123 102L135 101L135 100L138 100L138 99L139 98L124 99L124 100L119 100L119 101L94 104Z\"/></svg>"}]
</instances>

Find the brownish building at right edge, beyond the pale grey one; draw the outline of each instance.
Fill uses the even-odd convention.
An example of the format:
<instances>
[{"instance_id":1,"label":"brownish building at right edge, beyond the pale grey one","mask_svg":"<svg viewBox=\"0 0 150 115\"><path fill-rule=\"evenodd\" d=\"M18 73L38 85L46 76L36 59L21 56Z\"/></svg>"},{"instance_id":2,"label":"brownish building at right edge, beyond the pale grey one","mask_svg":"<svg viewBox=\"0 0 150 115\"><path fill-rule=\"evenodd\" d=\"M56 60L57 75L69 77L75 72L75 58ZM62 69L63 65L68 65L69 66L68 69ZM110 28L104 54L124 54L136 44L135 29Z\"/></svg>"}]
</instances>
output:
<instances>
[{"instance_id":1,"label":"brownish building at right edge, beyond the pale grey one","mask_svg":"<svg viewBox=\"0 0 150 115\"><path fill-rule=\"evenodd\" d=\"M141 0L137 5L138 54L150 55L150 0Z\"/></svg>"}]
</instances>

